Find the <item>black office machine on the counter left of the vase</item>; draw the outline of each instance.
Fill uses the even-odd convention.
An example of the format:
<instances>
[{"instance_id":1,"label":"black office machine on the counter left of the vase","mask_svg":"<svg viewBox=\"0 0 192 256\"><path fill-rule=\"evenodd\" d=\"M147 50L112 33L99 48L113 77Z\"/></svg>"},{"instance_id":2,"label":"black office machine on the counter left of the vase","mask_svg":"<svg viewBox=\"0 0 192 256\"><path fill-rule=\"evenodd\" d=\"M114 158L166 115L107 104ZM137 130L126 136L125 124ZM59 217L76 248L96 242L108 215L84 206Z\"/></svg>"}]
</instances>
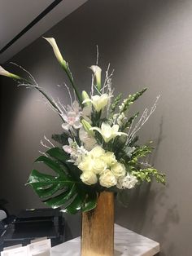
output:
<instances>
[{"instance_id":1,"label":"black office machine on the counter left of the vase","mask_svg":"<svg viewBox=\"0 0 192 256\"><path fill-rule=\"evenodd\" d=\"M39 237L50 238L51 246L64 241L64 220L59 210L22 210L2 232L1 247L28 245Z\"/></svg>"}]
</instances>

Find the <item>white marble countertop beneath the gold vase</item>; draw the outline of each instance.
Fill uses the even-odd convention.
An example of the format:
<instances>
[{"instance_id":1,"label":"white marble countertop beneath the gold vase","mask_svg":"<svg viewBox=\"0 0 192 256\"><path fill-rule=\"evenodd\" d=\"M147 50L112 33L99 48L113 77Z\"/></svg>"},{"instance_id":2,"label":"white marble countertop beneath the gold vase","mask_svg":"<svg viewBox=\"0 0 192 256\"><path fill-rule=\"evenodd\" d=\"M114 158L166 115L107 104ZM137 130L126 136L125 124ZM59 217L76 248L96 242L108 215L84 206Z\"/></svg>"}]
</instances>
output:
<instances>
[{"instance_id":1,"label":"white marble countertop beneath the gold vase","mask_svg":"<svg viewBox=\"0 0 192 256\"><path fill-rule=\"evenodd\" d=\"M115 256L153 256L159 253L159 243L115 224ZM76 237L51 249L51 256L81 256L81 237Z\"/></svg>"}]
</instances>

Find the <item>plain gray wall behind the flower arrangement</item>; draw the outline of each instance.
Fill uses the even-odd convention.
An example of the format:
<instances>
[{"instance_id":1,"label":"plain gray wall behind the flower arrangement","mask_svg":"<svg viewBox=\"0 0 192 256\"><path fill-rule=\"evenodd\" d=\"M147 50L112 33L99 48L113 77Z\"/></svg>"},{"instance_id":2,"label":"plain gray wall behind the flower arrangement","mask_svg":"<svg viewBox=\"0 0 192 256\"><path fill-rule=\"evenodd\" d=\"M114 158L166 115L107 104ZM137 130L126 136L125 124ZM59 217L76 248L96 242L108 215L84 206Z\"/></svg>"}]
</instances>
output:
<instances>
[{"instance_id":1,"label":"plain gray wall behind the flower arrangement","mask_svg":"<svg viewBox=\"0 0 192 256\"><path fill-rule=\"evenodd\" d=\"M87 67L95 63L115 68L113 85L124 96L148 87L133 108L151 106L161 95L155 115L140 132L153 139L151 161L167 174L166 187L153 183L133 194L127 209L116 204L116 222L159 241L161 255L190 256L192 250L191 95L192 2L190 0L89 0L46 33L55 37L82 90L90 85ZM68 103L67 93L55 85L66 77L50 46L41 38L13 59L27 68L41 86ZM11 68L11 66L9 65ZM15 70L15 68L13 68ZM61 130L59 117L32 90L1 85L1 196L11 212L42 207L24 187L40 139ZM80 217L67 217L72 235L80 232Z\"/></svg>"}]
</instances>

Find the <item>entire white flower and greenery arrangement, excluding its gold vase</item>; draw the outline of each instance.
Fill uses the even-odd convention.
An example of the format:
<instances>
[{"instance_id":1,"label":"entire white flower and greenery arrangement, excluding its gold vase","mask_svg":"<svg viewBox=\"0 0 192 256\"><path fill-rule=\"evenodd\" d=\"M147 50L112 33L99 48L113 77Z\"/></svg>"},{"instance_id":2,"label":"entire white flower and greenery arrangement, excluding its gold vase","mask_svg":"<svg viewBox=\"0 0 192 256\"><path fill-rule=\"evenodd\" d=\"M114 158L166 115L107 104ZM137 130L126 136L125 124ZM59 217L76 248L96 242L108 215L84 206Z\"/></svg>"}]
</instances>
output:
<instances>
[{"instance_id":1,"label":"entire white flower and greenery arrangement, excluding its gold vase","mask_svg":"<svg viewBox=\"0 0 192 256\"><path fill-rule=\"evenodd\" d=\"M71 91L66 86L71 105L65 106L59 99L56 101L47 95L26 70L28 78L0 67L2 76L11 77L20 86L38 90L62 121L63 133L52 136L61 146L55 147L45 137L50 146L41 142L48 150L35 161L50 167L55 175L34 169L28 179L28 184L41 200L53 208L61 207L65 212L76 214L78 211L94 209L100 192L118 194L135 188L142 182L149 183L152 178L158 183L165 183L164 174L146 161L147 155L152 151L150 143L138 145L137 137L137 131L154 113L159 97L152 108L146 108L137 121L139 113L128 117L130 106L146 88L123 100L121 94L115 97L109 67L102 83L102 69L98 64L90 67L93 72L90 93L84 90L80 94L55 39L45 39L52 46L72 85Z\"/></svg>"}]
</instances>

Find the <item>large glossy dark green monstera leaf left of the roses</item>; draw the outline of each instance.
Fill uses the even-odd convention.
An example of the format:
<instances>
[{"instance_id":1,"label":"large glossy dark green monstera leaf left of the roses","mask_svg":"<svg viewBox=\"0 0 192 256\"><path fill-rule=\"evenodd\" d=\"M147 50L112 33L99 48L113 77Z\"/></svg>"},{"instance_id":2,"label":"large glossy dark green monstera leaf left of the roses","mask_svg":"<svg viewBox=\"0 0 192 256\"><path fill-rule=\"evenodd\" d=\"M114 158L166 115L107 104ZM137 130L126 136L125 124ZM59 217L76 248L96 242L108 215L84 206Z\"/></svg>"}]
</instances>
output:
<instances>
[{"instance_id":1,"label":"large glossy dark green monstera leaf left of the roses","mask_svg":"<svg viewBox=\"0 0 192 256\"><path fill-rule=\"evenodd\" d=\"M47 157L46 157L47 156ZM43 163L55 172L55 175L32 170L28 183L52 208L61 207L63 212L76 214L96 207L97 192L81 182L81 171L68 163L68 155L61 148L51 148L46 156L38 157L36 163Z\"/></svg>"}]
</instances>

